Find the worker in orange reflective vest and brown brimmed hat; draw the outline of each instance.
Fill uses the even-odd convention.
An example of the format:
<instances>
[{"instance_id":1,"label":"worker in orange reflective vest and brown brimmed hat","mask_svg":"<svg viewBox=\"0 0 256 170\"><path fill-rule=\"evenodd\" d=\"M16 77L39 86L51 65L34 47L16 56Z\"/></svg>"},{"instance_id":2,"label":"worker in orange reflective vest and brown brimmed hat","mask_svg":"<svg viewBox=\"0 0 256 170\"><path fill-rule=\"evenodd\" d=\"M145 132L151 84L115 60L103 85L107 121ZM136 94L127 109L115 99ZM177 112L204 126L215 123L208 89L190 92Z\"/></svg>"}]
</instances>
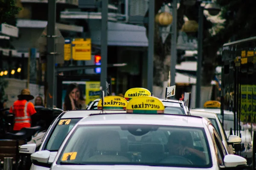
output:
<instances>
[{"instance_id":1,"label":"worker in orange reflective vest and brown brimmed hat","mask_svg":"<svg viewBox=\"0 0 256 170\"><path fill-rule=\"evenodd\" d=\"M20 130L23 127L31 127L31 118L36 113L35 106L29 100L34 99L30 94L29 89L23 89L18 95L18 100L14 102L10 108L10 113L15 115L14 131Z\"/></svg>"}]
</instances>

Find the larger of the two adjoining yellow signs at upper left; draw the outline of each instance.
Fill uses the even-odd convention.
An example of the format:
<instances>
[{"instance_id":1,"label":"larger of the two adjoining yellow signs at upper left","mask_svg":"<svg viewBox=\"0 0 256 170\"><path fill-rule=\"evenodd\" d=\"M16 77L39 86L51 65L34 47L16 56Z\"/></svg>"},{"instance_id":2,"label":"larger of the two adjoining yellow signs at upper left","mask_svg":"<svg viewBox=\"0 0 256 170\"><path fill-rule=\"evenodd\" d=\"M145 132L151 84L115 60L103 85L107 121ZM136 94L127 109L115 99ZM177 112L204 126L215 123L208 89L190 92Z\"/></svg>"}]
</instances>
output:
<instances>
[{"instance_id":1,"label":"larger of the two adjoining yellow signs at upper left","mask_svg":"<svg viewBox=\"0 0 256 170\"><path fill-rule=\"evenodd\" d=\"M91 39L75 39L72 42L72 57L74 60L91 60Z\"/></svg>"}]
</instances>

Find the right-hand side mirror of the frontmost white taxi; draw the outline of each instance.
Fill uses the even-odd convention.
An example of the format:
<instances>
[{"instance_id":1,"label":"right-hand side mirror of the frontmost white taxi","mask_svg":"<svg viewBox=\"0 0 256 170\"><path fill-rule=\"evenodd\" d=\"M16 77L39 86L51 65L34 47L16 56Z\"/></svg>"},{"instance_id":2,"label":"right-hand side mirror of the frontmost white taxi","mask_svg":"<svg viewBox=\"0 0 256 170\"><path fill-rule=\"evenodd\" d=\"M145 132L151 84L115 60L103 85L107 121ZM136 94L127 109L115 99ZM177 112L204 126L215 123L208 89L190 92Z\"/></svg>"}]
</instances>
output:
<instances>
[{"instance_id":1,"label":"right-hand side mirror of the frontmost white taxi","mask_svg":"<svg viewBox=\"0 0 256 170\"><path fill-rule=\"evenodd\" d=\"M241 156L237 155L226 155L224 157L225 167L241 167L247 165L247 160Z\"/></svg>"}]
</instances>

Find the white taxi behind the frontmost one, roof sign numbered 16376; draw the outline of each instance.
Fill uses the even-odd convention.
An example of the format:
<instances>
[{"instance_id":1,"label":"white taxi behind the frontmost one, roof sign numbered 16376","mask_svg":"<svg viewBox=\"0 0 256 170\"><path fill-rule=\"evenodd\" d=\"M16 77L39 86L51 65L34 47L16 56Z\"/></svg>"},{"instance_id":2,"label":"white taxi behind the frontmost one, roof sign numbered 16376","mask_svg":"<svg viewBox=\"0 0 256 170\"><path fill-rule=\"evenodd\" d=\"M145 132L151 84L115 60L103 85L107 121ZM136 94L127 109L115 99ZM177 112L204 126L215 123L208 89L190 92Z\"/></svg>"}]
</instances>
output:
<instances>
[{"instance_id":1,"label":"white taxi behind the frontmost one, roof sign numbered 16376","mask_svg":"<svg viewBox=\"0 0 256 170\"><path fill-rule=\"evenodd\" d=\"M122 102L122 109L120 110L109 110L108 105L105 105L105 110L85 110L85 111L66 111L61 113L50 125L42 139L41 150L47 150L50 153L50 156L54 158L58 152L61 143L69 133L69 131L76 125L79 120L88 116L89 114L99 114L99 113L126 113L125 108L127 105L127 101L119 96L106 96L105 102L111 99L118 99L119 102ZM99 102L99 106L101 106L101 102ZM111 109L116 109L116 105L111 105ZM119 103L117 104L119 106ZM108 110L106 110L108 109ZM20 146L20 153L32 154L35 152L35 144L24 144ZM32 164L31 170L49 170L49 167L40 167Z\"/></svg>"}]
</instances>

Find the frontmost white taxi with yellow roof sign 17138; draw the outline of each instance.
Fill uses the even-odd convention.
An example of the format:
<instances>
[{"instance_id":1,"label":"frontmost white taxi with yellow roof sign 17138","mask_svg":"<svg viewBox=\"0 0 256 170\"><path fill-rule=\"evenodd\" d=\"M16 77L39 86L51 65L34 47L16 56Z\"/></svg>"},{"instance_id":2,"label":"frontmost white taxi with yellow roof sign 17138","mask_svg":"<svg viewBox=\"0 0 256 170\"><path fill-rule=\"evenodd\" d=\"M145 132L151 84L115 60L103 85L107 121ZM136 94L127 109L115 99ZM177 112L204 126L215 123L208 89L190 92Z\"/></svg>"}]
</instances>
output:
<instances>
[{"instance_id":1,"label":"frontmost white taxi with yellow roof sign 17138","mask_svg":"<svg viewBox=\"0 0 256 170\"><path fill-rule=\"evenodd\" d=\"M247 166L246 159L227 154L209 119L164 114L163 103L151 96L131 99L126 110L87 116L70 131L55 158L43 150L31 155L32 162L51 170Z\"/></svg>"}]
</instances>

